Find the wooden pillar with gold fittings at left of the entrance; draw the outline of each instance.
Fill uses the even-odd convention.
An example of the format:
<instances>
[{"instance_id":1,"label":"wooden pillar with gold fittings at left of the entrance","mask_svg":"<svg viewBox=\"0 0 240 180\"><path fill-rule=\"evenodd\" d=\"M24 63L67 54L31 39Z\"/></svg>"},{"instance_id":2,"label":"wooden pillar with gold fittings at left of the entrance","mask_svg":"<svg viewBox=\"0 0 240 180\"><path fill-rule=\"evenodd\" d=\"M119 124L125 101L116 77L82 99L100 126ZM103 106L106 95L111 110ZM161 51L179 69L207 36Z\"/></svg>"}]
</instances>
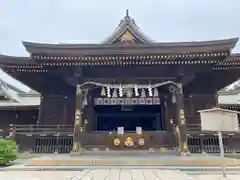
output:
<instances>
[{"instance_id":1,"label":"wooden pillar with gold fittings at left of the entrance","mask_svg":"<svg viewBox=\"0 0 240 180\"><path fill-rule=\"evenodd\" d=\"M75 120L74 120L74 137L73 137L73 153L83 153L83 147L81 143L81 133L83 132L83 120L82 120L82 101L83 91L80 85L76 87L76 107L75 107Z\"/></svg>"}]
</instances>

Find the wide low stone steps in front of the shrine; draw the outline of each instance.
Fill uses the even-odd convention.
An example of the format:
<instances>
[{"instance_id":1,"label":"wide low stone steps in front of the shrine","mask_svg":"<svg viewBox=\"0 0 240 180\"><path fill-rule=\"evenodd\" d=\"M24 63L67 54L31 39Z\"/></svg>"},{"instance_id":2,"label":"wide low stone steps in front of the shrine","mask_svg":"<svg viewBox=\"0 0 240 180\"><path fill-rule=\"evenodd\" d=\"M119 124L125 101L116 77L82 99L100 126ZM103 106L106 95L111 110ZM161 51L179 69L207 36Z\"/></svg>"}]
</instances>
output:
<instances>
[{"instance_id":1,"label":"wide low stone steps in front of the shrine","mask_svg":"<svg viewBox=\"0 0 240 180\"><path fill-rule=\"evenodd\" d=\"M140 155L81 155L70 156L69 154L45 155L32 158L26 161L28 166L113 166L113 165L162 165L162 166L220 166L222 163L226 166L240 166L240 161L233 158L224 158L219 156L158 156L158 154Z\"/></svg>"}]
</instances>

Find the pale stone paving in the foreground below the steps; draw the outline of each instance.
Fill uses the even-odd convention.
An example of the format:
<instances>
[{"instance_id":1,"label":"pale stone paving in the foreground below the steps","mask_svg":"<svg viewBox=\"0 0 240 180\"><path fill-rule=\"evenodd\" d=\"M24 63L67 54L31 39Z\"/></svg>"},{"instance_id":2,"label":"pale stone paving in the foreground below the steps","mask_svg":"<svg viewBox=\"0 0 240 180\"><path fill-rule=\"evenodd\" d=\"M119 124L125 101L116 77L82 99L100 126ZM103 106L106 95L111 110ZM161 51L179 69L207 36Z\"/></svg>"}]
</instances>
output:
<instances>
[{"instance_id":1,"label":"pale stone paving in the foreground below the steps","mask_svg":"<svg viewBox=\"0 0 240 180\"><path fill-rule=\"evenodd\" d=\"M82 171L11 171L0 172L5 180L220 180L221 175L187 175L180 171L160 169L85 169ZM228 175L225 180L239 180Z\"/></svg>"}]
</instances>

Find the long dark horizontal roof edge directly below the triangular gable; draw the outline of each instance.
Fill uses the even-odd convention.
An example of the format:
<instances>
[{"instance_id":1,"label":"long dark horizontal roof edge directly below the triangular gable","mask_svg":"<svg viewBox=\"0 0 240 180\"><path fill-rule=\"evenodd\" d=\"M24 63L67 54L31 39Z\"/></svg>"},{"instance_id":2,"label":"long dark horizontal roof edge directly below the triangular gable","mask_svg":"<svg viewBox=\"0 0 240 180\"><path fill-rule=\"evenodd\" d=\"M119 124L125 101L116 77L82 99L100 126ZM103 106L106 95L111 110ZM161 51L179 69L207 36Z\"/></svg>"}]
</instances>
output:
<instances>
[{"instance_id":1,"label":"long dark horizontal roof edge directly below the triangular gable","mask_svg":"<svg viewBox=\"0 0 240 180\"><path fill-rule=\"evenodd\" d=\"M215 41L195 41L177 43L153 44L42 44L23 42L26 50L32 54L65 55L65 56L97 56L97 55L166 55L185 53L216 53L229 52L233 49L238 38Z\"/></svg>"}]
</instances>

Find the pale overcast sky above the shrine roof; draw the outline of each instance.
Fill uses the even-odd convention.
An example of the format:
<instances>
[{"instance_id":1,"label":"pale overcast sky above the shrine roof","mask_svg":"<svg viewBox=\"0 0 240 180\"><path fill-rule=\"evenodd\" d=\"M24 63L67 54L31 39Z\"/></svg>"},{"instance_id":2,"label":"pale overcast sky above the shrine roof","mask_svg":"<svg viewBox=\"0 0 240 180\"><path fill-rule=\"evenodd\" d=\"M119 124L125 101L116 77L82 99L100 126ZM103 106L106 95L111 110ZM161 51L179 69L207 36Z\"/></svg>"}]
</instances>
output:
<instances>
[{"instance_id":1,"label":"pale overcast sky above the shrine roof","mask_svg":"<svg viewBox=\"0 0 240 180\"><path fill-rule=\"evenodd\" d=\"M160 42L240 36L239 0L0 0L0 53L27 56L22 40L98 43L125 9Z\"/></svg>"}]
</instances>

